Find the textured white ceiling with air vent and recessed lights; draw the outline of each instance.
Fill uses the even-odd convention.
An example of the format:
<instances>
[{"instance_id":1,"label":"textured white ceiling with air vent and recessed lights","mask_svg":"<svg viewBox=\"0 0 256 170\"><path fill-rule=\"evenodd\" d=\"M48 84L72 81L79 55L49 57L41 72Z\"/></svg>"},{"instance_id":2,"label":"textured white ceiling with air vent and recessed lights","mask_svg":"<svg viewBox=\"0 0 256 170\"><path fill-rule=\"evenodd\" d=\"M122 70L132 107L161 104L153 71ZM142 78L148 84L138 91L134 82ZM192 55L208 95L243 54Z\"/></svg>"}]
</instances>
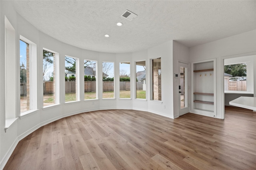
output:
<instances>
[{"instance_id":1,"label":"textured white ceiling with air vent and recessed lights","mask_svg":"<svg viewBox=\"0 0 256 170\"><path fill-rule=\"evenodd\" d=\"M256 29L256 1L37 0L13 4L18 14L55 39L109 53L139 51L169 40L193 47ZM138 17L122 18L125 10ZM118 21L124 25L118 27Z\"/></svg>"}]
</instances>

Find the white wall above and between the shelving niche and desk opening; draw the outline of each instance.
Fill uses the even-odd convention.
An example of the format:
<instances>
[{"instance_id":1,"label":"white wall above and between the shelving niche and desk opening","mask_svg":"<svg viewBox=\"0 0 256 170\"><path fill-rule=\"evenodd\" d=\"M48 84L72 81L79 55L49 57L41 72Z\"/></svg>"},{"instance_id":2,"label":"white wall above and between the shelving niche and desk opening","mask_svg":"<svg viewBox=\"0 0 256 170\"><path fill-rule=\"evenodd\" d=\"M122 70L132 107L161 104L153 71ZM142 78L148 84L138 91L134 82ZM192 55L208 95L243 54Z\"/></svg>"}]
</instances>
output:
<instances>
[{"instance_id":1,"label":"white wall above and between the shelving niche and desk opening","mask_svg":"<svg viewBox=\"0 0 256 170\"><path fill-rule=\"evenodd\" d=\"M217 116L224 119L224 58L242 57L256 52L256 30L248 31L190 48L190 63L216 58ZM255 61L254 61L255 63ZM256 67L254 66L254 72ZM256 79L254 78L254 89ZM254 90L255 94L255 90Z\"/></svg>"}]
</instances>

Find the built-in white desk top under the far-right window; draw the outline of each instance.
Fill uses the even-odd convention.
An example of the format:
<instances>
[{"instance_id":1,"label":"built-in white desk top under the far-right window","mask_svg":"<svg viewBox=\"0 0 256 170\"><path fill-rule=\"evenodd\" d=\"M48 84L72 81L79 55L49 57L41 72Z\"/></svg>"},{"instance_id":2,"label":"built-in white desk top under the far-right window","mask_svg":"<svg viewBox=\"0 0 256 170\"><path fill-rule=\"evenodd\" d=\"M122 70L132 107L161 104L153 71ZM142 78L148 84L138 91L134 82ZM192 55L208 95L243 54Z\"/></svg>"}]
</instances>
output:
<instances>
[{"instance_id":1,"label":"built-in white desk top under the far-right window","mask_svg":"<svg viewBox=\"0 0 256 170\"><path fill-rule=\"evenodd\" d=\"M241 96L235 100L230 101L229 104L256 111L256 97Z\"/></svg>"}]
</instances>

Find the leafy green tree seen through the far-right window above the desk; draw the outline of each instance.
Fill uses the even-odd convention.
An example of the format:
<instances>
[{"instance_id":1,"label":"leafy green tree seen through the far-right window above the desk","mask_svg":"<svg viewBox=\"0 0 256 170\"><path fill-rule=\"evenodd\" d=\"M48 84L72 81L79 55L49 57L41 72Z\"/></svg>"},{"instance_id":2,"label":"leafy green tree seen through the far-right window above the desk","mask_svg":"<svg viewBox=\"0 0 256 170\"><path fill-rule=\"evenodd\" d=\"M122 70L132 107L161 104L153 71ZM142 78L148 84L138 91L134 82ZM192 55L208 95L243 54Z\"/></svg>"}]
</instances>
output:
<instances>
[{"instance_id":1,"label":"leafy green tree seen through the far-right window above the desk","mask_svg":"<svg viewBox=\"0 0 256 170\"><path fill-rule=\"evenodd\" d=\"M231 74L233 77L244 77L246 76L246 63L225 65L224 72Z\"/></svg>"}]
</instances>

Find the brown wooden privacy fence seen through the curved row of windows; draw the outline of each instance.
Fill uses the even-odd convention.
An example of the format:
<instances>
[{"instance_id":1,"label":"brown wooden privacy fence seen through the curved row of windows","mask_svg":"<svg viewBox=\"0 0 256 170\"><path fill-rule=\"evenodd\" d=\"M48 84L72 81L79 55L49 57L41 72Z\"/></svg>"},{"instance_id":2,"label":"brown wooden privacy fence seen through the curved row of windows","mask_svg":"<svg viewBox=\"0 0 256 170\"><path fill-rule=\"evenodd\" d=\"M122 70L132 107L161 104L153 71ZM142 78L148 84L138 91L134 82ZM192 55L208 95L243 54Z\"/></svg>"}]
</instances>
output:
<instances>
[{"instance_id":1,"label":"brown wooden privacy fence seen through the curved row of windows","mask_svg":"<svg viewBox=\"0 0 256 170\"><path fill-rule=\"evenodd\" d=\"M20 94L23 91L26 92L26 83L20 86ZM136 82L136 90L142 90L143 83ZM120 82L120 90L130 90L130 82ZM114 82L103 82L103 91L114 91ZM65 93L76 92L76 82L65 82ZM84 82L84 92L96 92L96 81ZM53 94L53 82L44 82L44 94ZM26 94L24 94L26 95Z\"/></svg>"}]
</instances>

